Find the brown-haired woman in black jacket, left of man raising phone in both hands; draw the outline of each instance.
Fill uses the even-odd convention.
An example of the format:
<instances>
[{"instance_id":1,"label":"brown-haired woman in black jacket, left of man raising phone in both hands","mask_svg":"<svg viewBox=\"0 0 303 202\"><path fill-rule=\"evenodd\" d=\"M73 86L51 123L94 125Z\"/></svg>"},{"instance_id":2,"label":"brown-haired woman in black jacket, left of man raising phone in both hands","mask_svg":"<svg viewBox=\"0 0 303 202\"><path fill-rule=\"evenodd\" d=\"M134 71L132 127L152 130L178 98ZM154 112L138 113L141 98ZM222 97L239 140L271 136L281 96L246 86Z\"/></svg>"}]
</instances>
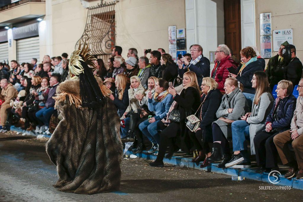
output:
<instances>
[{"instance_id":1,"label":"brown-haired woman in black jacket, left of man raising phone in both hands","mask_svg":"<svg viewBox=\"0 0 303 202\"><path fill-rule=\"evenodd\" d=\"M172 60L171 55L164 53L161 56L160 62L163 67L162 79L168 82L173 82L174 79L178 76L178 67Z\"/></svg>"}]
</instances>

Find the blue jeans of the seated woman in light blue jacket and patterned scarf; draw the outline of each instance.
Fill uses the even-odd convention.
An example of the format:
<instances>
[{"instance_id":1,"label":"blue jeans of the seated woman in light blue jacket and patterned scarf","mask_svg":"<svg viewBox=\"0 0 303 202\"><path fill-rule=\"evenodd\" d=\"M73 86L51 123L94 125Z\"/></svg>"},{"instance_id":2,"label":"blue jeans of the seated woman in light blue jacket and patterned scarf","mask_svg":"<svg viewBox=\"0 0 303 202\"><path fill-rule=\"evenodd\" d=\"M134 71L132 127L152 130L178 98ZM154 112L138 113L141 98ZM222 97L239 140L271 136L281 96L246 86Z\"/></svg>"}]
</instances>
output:
<instances>
[{"instance_id":1,"label":"blue jeans of the seated woman in light blue jacket and patterned scarf","mask_svg":"<svg viewBox=\"0 0 303 202\"><path fill-rule=\"evenodd\" d=\"M139 129L142 131L142 133L148 138L151 143L156 144L160 142L160 135L157 131L157 123L159 122L155 121L154 123L149 123L148 119L143 121L141 124L139 124Z\"/></svg>"}]
</instances>

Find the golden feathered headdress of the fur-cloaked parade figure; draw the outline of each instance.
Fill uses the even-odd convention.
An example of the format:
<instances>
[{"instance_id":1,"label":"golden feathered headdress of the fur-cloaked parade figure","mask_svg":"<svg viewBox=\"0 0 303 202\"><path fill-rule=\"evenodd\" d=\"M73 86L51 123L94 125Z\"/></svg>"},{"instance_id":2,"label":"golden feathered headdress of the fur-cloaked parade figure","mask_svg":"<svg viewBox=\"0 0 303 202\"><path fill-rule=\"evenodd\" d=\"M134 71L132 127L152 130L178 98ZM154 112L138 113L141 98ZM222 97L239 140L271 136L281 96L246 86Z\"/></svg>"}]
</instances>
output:
<instances>
[{"instance_id":1,"label":"golden feathered headdress of the fur-cloaked parade figure","mask_svg":"<svg viewBox=\"0 0 303 202\"><path fill-rule=\"evenodd\" d=\"M77 50L73 51L69 59L68 65L68 77L69 79L78 79L78 75L83 73L84 68L82 67L81 61L85 62L88 67L92 68L92 71L96 70L94 60L97 60L94 56L89 54L91 50L88 48L86 39L81 49L81 41Z\"/></svg>"}]
</instances>

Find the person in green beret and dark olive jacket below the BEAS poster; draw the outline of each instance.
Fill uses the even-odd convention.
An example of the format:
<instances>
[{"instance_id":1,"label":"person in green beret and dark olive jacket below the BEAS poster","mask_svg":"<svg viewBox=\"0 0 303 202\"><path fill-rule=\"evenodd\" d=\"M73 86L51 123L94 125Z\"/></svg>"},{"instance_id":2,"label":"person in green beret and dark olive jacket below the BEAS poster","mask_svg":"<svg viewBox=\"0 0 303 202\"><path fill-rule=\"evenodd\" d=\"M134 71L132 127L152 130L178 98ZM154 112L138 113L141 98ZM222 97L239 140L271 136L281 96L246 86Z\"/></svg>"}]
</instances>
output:
<instances>
[{"instance_id":1,"label":"person in green beret and dark olive jacket below the BEAS poster","mask_svg":"<svg viewBox=\"0 0 303 202\"><path fill-rule=\"evenodd\" d=\"M275 84L278 84L279 81L285 79L285 71L287 61L283 58L283 49L286 45L289 45L288 41L285 41L281 44L278 54L274 57L271 57L265 68L265 72L268 76L268 81L270 88L273 89Z\"/></svg>"}]
</instances>

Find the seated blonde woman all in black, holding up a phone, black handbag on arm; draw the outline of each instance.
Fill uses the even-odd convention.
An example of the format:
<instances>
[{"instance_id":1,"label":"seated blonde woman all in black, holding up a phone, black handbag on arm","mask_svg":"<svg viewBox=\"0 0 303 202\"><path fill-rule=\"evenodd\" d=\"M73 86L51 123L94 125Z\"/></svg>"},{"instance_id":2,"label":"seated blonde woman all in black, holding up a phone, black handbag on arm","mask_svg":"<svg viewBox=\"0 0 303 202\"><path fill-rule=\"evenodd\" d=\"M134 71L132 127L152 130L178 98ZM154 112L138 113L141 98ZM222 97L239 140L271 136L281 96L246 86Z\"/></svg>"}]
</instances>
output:
<instances>
[{"instance_id":1,"label":"seated blonde woman all in black, holding up a phone, black handbag on arm","mask_svg":"<svg viewBox=\"0 0 303 202\"><path fill-rule=\"evenodd\" d=\"M197 111L200 104L200 88L198 86L197 76L192 71L187 71L183 75L183 90L180 95L175 91L175 88L168 88L168 92L173 96L174 102L169 109L166 124L168 125L160 134L160 144L157 159L150 163L153 167L163 167L163 158L167 146L169 153L166 157L170 158L176 149L181 148L182 151L189 153L190 142L188 137L188 128L186 127L186 117ZM180 113L180 122L168 120L169 114L176 109Z\"/></svg>"}]
</instances>

